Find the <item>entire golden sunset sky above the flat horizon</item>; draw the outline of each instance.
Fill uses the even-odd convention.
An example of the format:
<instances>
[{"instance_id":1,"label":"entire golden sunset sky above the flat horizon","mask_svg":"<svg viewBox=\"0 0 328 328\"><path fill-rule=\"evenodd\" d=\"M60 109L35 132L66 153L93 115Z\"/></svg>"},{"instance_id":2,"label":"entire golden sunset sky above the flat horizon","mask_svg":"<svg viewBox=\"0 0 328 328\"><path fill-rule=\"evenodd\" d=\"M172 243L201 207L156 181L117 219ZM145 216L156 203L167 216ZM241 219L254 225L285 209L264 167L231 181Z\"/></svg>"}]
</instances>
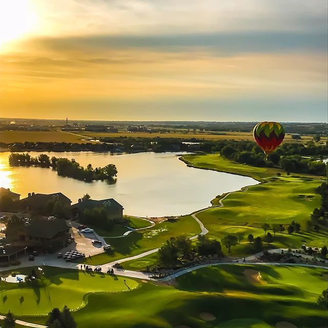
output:
<instances>
[{"instance_id":1,"label":"entire golden sunset sky above the flat horizon","mask_svg":"<svg viewBox=\"0 0 328 328\"><path fill-rule=\"evenodd\" d=\"M0 0L0 117L327 121L326 0Z\"/></svg>"}]
</instances>

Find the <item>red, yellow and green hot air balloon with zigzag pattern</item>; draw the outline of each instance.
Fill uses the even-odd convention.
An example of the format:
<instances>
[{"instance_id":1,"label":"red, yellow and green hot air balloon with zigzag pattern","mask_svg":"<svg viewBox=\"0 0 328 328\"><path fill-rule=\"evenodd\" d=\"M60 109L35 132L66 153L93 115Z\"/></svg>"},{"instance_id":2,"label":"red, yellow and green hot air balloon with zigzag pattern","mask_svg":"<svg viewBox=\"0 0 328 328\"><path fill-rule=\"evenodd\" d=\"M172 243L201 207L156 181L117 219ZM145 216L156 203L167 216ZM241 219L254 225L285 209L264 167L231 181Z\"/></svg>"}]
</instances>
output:
<instances>
[{"instance_id":1,"label":"red, yellow and green hot air balloon with zigzag pattern","mask_svg":"<svg viewBox=\"0 0 328 328\"><path fill-rule=\"evenodd\" d=\"M285 129L277 122L261 122L254 127L253 136L264 154L269 155L281 144Z\"/></svg>"}]
</instances>

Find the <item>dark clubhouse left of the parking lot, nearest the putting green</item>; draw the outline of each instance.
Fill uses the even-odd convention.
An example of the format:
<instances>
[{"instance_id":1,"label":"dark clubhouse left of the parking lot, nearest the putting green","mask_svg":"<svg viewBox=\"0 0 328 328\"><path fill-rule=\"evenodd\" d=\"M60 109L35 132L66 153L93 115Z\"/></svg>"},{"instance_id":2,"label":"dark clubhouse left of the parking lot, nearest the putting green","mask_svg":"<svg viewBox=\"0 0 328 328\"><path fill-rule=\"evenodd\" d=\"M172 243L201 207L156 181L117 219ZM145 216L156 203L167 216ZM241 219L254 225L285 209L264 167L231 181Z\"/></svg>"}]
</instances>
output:
<instances>
[{"instance_id":1,"label":"dark clubhouse left of the parking lot, nearest the putting green","mask_svg":"<svg viewBox=\"0 0 328 328\"><path fill-rule=\"evenodd\" d=\"M6 242L15 247L51 250L62 248L70 237L66 220L57 218L24 219L22 223L8 226Z\"/></svg>"}]
</instances>

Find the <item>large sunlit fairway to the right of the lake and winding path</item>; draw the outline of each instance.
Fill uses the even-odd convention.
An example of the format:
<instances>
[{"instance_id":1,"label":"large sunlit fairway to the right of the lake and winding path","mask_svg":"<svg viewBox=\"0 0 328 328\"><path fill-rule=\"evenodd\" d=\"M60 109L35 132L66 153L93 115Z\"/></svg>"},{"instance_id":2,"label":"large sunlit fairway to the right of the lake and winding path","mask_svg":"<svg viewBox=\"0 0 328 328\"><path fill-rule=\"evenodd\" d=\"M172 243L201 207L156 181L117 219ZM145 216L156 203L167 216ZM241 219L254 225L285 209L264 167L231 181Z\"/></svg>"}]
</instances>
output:
<instances>
[{"instance_id":1,"label":"large sunlit fairway to the right of the lake and winding path","mask_svg":"<svg viewBox=\"0 0 328 328\"><path fill-rule=\"evenodd\" d=\"M261 224L264 222L287 226L295 220L302 226L300 233L277 233L271 248L296 248L304 243L321 247L326 244L325 231L305 231L310 214L314 208L320 207L320 195L315 193L322 182L320 178L284 174L278 177L276 173L282 171L241 165L218 154L184 155L182 159L193 167L247 175L270 182L251 186L247 191L231 193L223 200L223 208L213 207L197 214L209 230L209 237L221 239L227 233L238 232L245 235L243 242L232 248L231 255L245 256L257 252L245 239L250 233L263 237ZM218 199L220 197L212 203L217 205Z\"/></svg>"}]
</instances>

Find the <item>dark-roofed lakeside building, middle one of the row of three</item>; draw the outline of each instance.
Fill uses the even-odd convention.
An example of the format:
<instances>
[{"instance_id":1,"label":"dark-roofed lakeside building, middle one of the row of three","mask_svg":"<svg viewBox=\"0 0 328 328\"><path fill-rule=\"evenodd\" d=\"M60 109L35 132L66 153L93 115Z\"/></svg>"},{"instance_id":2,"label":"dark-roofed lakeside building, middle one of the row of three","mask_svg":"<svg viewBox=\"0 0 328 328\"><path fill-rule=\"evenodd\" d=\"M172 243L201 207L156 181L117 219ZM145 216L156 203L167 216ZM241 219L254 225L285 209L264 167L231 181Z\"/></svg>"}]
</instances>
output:
<instances>
[{"instance_id":1,"label":"dark-roofed lakeside building, middle one of the row of three","mask_svg":"<svg viewBox=\"0 0 328 328\"><path fill-rule=\"evenodd\" d=\"M64 207L71 206L71 200L62 193L54 194L35 194L29 193L26 198L19 201L20 208L26 211L43 212L47 209L49 201L59 200Z\"/></svg>"}]
</instances>

